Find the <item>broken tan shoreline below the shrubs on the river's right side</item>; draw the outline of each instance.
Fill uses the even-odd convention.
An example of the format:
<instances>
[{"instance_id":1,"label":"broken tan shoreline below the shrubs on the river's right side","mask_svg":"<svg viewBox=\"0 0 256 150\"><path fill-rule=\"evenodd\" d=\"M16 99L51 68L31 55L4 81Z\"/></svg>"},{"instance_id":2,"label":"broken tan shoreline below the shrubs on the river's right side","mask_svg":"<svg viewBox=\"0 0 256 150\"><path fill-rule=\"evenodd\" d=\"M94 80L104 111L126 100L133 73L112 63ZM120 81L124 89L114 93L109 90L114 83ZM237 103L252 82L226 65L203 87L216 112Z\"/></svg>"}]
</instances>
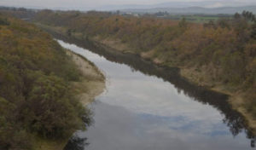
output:
<instances>
[{"instance_id":1,"label":"broken tan shoreline below the shrubs on the river's right side","mask_svg":"<svg viewBox=\"0 0 256 150\"><path fill-rule=\"evenodd\" d=\"M55 32L55 33L60 34L61 36L64 36L66 38L75 38L78 40L84 40L83 38L81 38L79 33L73 33L71 37L67 37L67 35L65 35L65 32L64 32L65 28L63 28L63 27L45 26L42 24L37 24L37 25L44 28L45 30L47 30L49 32ZM100 46L116 50L117 52L122 53L122 54L136 55L134 53L131 53L131 51L129 49L127 49L127 46L124 46L124 45L121 46L124 49L117 49L117 47L118 47L117 45L119 44L119 42L113 42L113 41L108 42L108 40L104 40L104 39L100 40L99 38L92 38L92 39L90 38L90 41L92 43L100 44ZM112 44L114 44L114 45L112 45ZM152 58L148 57L147 55L138 55L138 56L142 60L152 62L154 65L170 68L170 66L166 66L166 65L162 64L159 60L152 60ZM246 123L247 126L250 128L250 130L252 130L253 134L256 135L256 120L253 119L252 114L248 113L246 108L243 107L243 105L244 105L243 95L246 95L246 93L242 93L239 91L233 92L233 91L229 90L230 87L228 87L227 85L224 85L224 84L207 83L207 81L203 81L203 80L200 81L200 80L198 80L198 78L205 78L205 77L203 77L203 73L196 72L195 70L190 69L190 68L183 68L183 67L178 67L178 68L180 69L180 73L179 73L180 76L183 78L186 78L191 84L202 86L202 87L205 87L212 91L216 91L216 92L224 94L224 95L229 95L230 98L229 98L228 102L230 103L231 107L234 110L236 110L237 112L241 113L241 115L245 118L245 120L247 122ZM212 84L214 84L214 85L212 86Z\"/></svg>"}]
</instances>

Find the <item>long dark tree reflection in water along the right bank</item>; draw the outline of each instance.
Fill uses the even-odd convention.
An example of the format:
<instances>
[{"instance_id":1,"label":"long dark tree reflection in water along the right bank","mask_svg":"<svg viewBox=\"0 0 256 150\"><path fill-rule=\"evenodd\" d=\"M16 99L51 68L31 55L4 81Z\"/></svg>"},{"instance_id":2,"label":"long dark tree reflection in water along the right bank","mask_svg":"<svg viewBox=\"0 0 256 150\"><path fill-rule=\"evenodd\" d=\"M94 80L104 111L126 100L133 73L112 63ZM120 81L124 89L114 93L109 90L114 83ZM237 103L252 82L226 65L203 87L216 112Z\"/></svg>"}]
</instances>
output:
<instances>
[{"instance_id":1,"label":"long dark tree reflection in water along the right bank","mask_svg":"<svg viewBox=\"0 0 256 150\"><path fill-rule=\"evenodd\" d=\"M179 75L178 68L156 66L152 62L143 61L138 55L122 54L100 43L64 38L55 34L54 36L67 43L75 43L80 47L90 49L96 54L104 56L108 61L126 64L131 66L134 71L140 71L150 76L163 78L165 81L172 83L178 92L183 91L185 95L188 95L195 101L200 101L203 104L209 104L218 109L218 111L224 115L224 124L227 124L230 128L232 135L236 136L242 130L245 130L247 138L251 140L251 146L255 147L255 136L253 135L252 129L247 127L247 121L241 116L241 113L232 109L227 101L229 98L228 95L220 94L201 86L196 86L195 84L190 84L185 78L182 78Z\"/></svg>"}]
</instances>

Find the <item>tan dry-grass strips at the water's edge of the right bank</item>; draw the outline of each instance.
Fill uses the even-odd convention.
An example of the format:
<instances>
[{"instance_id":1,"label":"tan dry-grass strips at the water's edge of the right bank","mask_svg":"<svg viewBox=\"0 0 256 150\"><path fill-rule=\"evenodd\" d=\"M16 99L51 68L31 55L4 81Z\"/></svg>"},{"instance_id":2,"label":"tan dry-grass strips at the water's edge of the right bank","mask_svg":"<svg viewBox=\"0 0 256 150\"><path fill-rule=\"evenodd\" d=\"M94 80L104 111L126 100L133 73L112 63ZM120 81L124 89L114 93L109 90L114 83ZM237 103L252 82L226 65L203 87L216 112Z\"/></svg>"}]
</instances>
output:
<instances>
[{"instance_id":1,"label":"tan dry-grass strips at the water's edge of the right bank","mask_svg":"<svg viewBox=\"0 0 256 150\"><path fill-rule=\"evenodd\" d=\"M43 28L46 28L47 30L52 30L54 32L57 32L61 34L62 36L67 36L67 29L64 27L52 27L52 26L44 26L41 24L38 24L38 26L41 26ZM79 34L79 32L73 32L71 35L72 38L77 38L79 40L83 40L83 35ZM113 40L111 38L100 38L100 37L94 37L90 38L90 40L94 41L95 43L99 43L102 45L106 45L107 47L114 49L116 51L119 51L121 53L125 54L134 54L131 49L129 49L129 45L125 45L125 43L121 43L118 40ZM154 58L154 52L149 51L148 53L142 53L140 54L141 58L149 60L154 62L154 64L157 64L159 66L166 66L170 67L169 64L165 64L164 61L161 61L158 57ZM252 113L248 113L247 111L247 101L245 101L247 98L247 91L243 91L241 89L236 89L236 87L232 85L225 85L222 83L214 82L212 81L212 78L208 75L208 70L205 71L198 70L198 68L194 67L184 67L179 66L180 68L180 75L184 78L187 78L189 82L207 87L207 89L212 89L214 91L218 91L220 93L224 93L226 95L230 95L229 102L231 106L238 112L240 112L246 119L247 124L250 128L253 129L253 133L256 134L256 120ZM251 95L251 94L250 94Z\"/></svg>"}]
</instances>

